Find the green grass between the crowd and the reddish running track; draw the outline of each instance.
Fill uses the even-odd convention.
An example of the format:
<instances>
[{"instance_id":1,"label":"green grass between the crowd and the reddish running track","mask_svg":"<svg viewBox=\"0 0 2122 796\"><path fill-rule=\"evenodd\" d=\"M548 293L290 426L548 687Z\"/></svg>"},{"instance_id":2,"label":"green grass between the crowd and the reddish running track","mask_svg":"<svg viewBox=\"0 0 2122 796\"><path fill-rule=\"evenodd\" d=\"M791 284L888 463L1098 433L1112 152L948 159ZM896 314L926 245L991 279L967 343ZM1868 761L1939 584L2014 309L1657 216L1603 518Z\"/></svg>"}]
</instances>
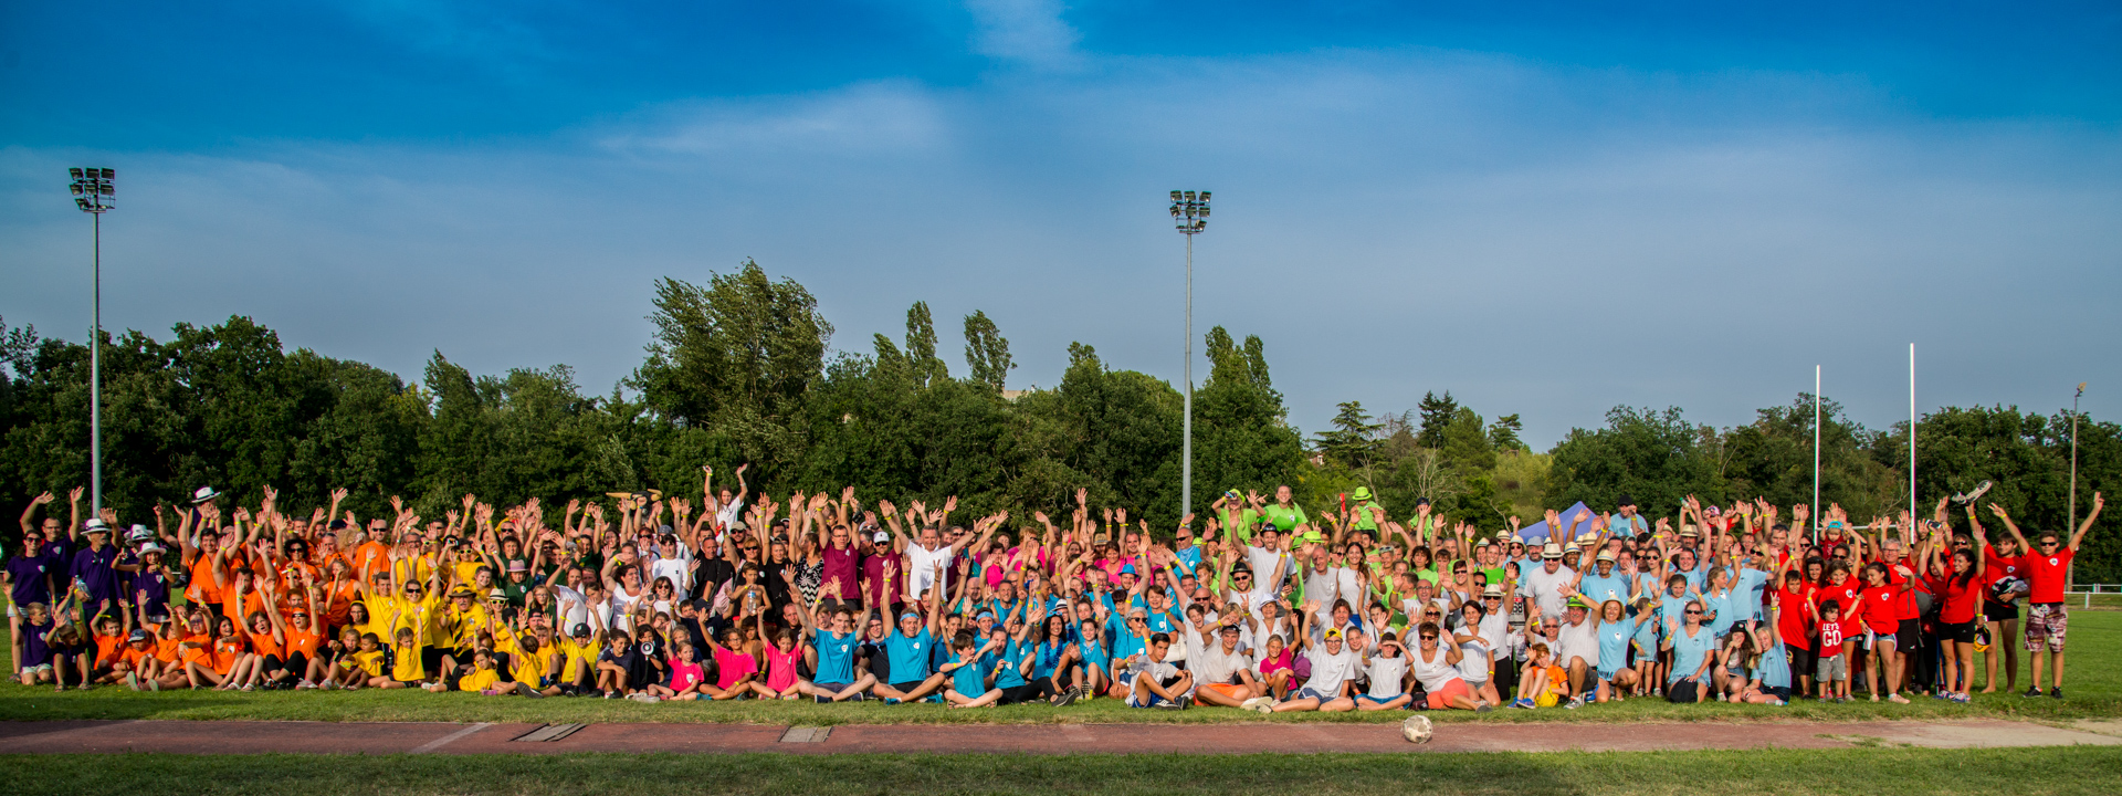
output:
<instances>
[{"instance_id":1,"label":"green grass between the crowd and the reddish running track","mask_svg":"<svg viewBox=\"0 0 2122 796\"><path fill-rule=\"evenodd\" d=\"M2022 660L2024 664L2024 660ZM2027 673L2020 673L2024 688ZM1978 677L1980 683L1980 677ZM1923 698L1916 705L1850 703L1791 707L1668 705L1628 700L1581 711L1432 711L1439 722L1702 722L1702 720L1880 720L1880 717L2029 717L2077 720L2122 715L2122 613L2075 611L2065 690L2069 700L1978 694L1973 705ZM1050 722L1398 722L1405 713L1290 713L1263 717L1235 709L1180 713L1135 711L1114 700L1053 709L1016 705L953 711L934 705L813 705L813 703L666 703L639 705L601 698L543 698L427 694L427 692L129 692L123 688L70 690L0 686L0 720L314 720L314 722L749 722L749 724L1050 724Z\"/></svg>"}]
</instances>

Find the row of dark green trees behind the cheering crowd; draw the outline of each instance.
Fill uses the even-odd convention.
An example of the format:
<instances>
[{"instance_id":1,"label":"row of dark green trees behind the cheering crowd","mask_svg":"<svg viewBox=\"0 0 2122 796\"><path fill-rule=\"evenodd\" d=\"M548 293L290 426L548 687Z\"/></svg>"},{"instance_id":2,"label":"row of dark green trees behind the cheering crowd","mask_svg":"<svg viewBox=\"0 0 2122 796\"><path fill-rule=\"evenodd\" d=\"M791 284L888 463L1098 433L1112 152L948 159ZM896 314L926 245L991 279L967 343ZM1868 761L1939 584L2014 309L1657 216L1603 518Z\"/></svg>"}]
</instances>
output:
<instances>
[{"instance_id":1,"label":"row of dark green trees behind the cheering crowd","mask_svg":"<svg viewBox=\"0 0 2122 796\"><path fill-rule=\"evenodd\" d=\"M959 495L968 516L1057 512L1078 486L1165 529L1180 516L1182 395L1108 367L1069 344L1053 388L1006 393L1010 344L985 312L963 318L966 371L938 354L925 304L900 340L834 352L813 295L758 263L707 284L660 280L645 361L611 395L586 395L564 367L475 376L435 352L420 382L286 350L250 318L176 325L104 342L104 492L127 522L157 501L212 484L257 499L265 484L303 501L335 486L350 507L382 512L390 495L439 514L456 495L490 501L596 499L607 490L698 492L700 465L728 480L751 463L772 492L853 484L872 497ZM1343 403L1305 439L1273 388L1260 338L1207 333L1207 380L1195 393L1193 509L1224 488L1290 484L1309 507L1358 486L1394 516L1428 499L1437 512L1498 529L1547 507L1611 507L1632 495L1647 514L1681 499L1812 497L1812 397L1715 429L1681 410L1615 408L1602 429L1575 429L1547 452L1519 439L1519 416L1485 420L1449 393L1405 414ZM0 499L23 505L89 478L89 350L0 325ZM1908 505L1908 427L1865 429L1825 403L1823 501L1853 516ZM2080 514L2122 475L2122 429L2077 429ZM2031 526L2063 526L2067 414L1946 408L1916 433L1923 501L1995 480L1993 499ZM2090 539L2080 579L2122 579L2122 533Z\"/></svg>"}]
</instances>

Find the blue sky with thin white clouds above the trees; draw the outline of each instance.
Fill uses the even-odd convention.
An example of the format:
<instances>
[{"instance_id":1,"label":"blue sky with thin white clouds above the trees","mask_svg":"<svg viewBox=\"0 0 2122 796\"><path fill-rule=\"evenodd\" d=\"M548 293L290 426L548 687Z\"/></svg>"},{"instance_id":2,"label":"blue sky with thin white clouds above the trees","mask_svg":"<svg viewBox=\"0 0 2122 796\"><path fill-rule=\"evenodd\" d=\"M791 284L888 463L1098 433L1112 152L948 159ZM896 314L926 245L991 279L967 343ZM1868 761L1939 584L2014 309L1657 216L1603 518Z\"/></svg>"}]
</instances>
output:
<instances>
[{"instance_id":1,"label":"blue sky with thin white clouds above the trees","mask_svg":"<svg viewBox=\"0 0 2122 796\"><path fill-rule=\"evenodd\" d=\"M108 327L603 393L654 278L755 257L838 348L927 299L1012 386L1072 340L1178 380L1197 187L1197 333L1305 431L1734 425L1812 365L1878 427L1910 342L1923 408L2122 391L2116 4L6 4L0 93L0 316L70 340L95 161Z\"/></svg>"}]
</instances>

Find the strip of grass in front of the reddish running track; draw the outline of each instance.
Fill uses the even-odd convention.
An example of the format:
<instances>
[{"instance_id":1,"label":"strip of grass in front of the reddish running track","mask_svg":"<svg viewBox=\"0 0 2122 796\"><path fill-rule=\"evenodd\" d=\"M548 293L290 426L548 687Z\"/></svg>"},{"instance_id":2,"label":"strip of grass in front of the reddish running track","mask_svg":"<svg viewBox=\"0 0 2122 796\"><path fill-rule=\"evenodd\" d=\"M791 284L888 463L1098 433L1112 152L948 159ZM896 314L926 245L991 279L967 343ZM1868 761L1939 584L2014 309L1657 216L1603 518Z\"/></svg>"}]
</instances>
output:
<instances>
[{"instance_id":1,"label":"strip of grass in front of the reddish running track","mask_svg":"<svg viewBox=\"0 0 2122 796\"><path fill-rule=\"evenodd\" d=\"M1715 777L1706 777L1715 773ZM17 794L2116 794L2122 749L1405 756L0 756ZM679 785L681 783L681 785ZM174 785L174 788L172 788Z\"/></svg>"}]
</instances>

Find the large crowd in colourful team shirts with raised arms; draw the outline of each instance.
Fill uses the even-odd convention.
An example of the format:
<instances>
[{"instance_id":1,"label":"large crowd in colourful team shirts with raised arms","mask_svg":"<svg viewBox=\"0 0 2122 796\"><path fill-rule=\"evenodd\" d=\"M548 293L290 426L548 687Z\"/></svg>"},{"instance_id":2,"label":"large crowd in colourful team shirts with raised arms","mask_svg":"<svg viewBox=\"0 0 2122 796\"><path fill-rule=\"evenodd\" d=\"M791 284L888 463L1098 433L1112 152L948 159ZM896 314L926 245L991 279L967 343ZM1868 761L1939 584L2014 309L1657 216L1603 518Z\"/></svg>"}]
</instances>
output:
<instances>
[{"instance_id":1,"label":"large crowd in colourful team shirts with raised arms","mask_svg":"<svg viewBox=\"0 0 2122 796\"><path fill-rule=\"evenodd\" d=\"M1059 522L953 520L957 499L698 503L473 495L443 518L308 516L199 488L66 522L21 514L6 563L23 686L429 690L490 696L944 703L1260 713L2063 698L2075 531L1995 503L1853 520L1838 505L1687 499L1676 518L1547 512L1545 535L1224 492L1199 524L1129 524L1082 490ZM42 514L42 518L38 518ZM1961 514L1961 516L1954 516ZM1814 522L1816 520L1816 522ZM2024 622L2020 622L2022 607ZM2046 677L2046 679L2043 679Z\"/></svg>"}]
</instances>

